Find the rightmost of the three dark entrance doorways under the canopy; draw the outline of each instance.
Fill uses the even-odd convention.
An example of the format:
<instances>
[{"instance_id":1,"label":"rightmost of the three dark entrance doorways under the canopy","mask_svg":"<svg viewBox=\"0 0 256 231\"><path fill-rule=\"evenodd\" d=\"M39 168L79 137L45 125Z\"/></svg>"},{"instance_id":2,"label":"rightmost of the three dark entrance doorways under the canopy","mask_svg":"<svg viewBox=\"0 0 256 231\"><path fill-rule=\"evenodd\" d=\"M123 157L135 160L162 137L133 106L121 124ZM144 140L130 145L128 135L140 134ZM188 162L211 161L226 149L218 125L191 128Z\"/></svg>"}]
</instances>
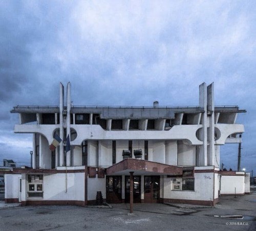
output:
<instances>
[{"instance_id":1,"label":"rightmost of the three dark entrance doorways under the canopy","mask_svg":"<svg viewBox=\"0 0 256 231\"><path fill-rule=\"evenodd\" d=\"M144 176L144 203L160 203L160 176Z\"/></svg>"}]
</instances>

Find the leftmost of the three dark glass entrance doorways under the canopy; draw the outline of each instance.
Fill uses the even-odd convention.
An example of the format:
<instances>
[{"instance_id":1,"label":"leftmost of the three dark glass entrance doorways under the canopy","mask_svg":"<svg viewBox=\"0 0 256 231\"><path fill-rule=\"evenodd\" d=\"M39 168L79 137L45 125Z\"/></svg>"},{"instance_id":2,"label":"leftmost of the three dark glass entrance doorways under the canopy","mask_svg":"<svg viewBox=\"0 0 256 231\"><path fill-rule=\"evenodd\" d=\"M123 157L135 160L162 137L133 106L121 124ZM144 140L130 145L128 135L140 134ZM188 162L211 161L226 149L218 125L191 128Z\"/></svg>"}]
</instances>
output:
<instances>
[{"instance_id":1,"label":"leftmost of the three dark glass entrance doorways under the canopy","mask_svg":"<svg viewBox=\"0 0 256 231\"><path fill-rule=\"evenodd\" d=\"M106 202L122 203L122 176L106 176Z\"/></svg>"}]
</instances>

